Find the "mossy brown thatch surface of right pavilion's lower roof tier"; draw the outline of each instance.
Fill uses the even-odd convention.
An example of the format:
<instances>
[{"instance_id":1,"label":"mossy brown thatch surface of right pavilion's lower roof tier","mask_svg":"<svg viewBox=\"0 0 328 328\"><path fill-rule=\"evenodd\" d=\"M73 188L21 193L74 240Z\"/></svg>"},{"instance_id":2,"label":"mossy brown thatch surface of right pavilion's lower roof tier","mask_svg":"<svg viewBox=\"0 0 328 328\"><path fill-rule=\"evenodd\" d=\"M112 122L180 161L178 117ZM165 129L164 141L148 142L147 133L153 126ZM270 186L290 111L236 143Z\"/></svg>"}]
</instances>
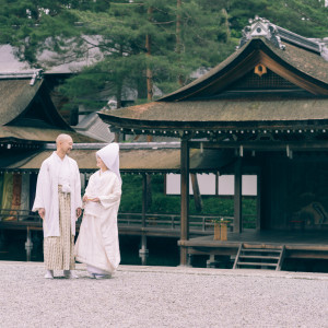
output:
<instances>
[{"instance_id":1,"label":"mossy brown thatch surface of right pavilion's lower roof tier","mask_svg":"<svg viewBox=\"0 0 328 328\"><path fill-rule=\"evenodd\" d=\"M108 116L102 116L104 120L107 120L106 117L108 121L112 117L118 121L133 119L142 121L145 126L154 124L157 127L166 122L218 122L220 126L220 122L321 120L328 119L328 98L154 102L113 110Z\"/></svg>"}]
</instances>

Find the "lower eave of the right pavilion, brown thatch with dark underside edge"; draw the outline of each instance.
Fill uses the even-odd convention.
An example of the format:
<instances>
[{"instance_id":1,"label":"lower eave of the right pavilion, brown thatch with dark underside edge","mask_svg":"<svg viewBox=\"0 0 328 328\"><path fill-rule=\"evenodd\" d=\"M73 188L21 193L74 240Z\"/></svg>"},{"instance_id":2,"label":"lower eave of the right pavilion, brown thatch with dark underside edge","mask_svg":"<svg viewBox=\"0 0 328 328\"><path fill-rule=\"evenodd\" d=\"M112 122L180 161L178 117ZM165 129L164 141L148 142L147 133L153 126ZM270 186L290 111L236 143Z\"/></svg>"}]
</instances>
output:
<instances>
[{"instance_id":1,"label":"lower eave of the right pavilion, brown thatch with dark underside edge","mask_svg":"<svg viewBox=\"0 0 328 328\"><path fill-rule=\"evenodd\" d=\"M190 102L153 102L103 110L106 124L124 129L245 129L326 126L326 98L246 98Z\"/></svg>"}]
</instances>

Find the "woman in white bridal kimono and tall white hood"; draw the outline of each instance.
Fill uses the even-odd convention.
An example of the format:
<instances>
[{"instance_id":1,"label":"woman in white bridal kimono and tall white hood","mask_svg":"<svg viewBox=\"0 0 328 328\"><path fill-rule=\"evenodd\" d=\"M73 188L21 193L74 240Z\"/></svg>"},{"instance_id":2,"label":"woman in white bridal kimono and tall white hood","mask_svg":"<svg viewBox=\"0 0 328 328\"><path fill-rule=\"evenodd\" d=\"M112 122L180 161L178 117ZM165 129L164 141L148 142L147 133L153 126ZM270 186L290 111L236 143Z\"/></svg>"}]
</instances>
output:
<instances>
[{"instance_id":1,"label":"woman in white bridal kimono and tall white hood","mask_svg":"<svg viewBox=\"0 0 328 328\"><path fill-rule=\"evenodd\" d=\"M120 262L117 212L121 196L119 147L110 143L96 152L99 169L83 196L84 214L75 244L75 258L93 278L109 278Z\"/></svg>"}]
</instances>

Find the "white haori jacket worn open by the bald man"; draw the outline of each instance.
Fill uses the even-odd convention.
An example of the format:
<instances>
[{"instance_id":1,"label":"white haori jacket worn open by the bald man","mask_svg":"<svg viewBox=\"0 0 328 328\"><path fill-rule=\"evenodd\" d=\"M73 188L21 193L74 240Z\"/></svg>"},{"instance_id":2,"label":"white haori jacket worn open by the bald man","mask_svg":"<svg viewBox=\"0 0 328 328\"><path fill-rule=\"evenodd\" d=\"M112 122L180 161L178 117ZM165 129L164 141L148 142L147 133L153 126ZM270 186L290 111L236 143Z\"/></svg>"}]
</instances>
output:
<instances>
[{"instance_id":1,"label":"white haori jacket worn open by the bald man","mask_svg":"<svg viewBox=\"0 0 328 328\"><path fill-rule=\"evenodd\" d=\"M42 164L37 176L36 195L32 211L44 208L44 237L59 237L59 201L58 201L58 175L60 157L54 152ZM71 191L71 231L75 235L77 209L82 208L81 178L78 163L71 157L65 157L70 166Z\"/></svg>"}]
</instances>

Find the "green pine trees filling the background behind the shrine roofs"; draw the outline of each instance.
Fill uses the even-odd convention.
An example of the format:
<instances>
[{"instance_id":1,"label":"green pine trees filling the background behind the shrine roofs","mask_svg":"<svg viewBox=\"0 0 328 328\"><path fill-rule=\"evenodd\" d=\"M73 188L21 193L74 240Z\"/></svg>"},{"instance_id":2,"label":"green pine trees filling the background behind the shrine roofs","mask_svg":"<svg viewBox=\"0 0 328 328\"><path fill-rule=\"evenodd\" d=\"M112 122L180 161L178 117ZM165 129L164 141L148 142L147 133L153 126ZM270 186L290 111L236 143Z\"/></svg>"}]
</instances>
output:
<instances>
[{"instance_id":1,"label":"green pine trees filling the background behind the shrine roofs","mask_svg":"<svg viewBox=\"0 0 328 328\"><path fill-rule=\"evenodd\" d=\"M108 96L121 104L127 86L139 102L190 82L198 68L226 58L255 14L308 37L327 36L328 8L319 0L0 0L0 42L39 67L39 55L77 61L97 49L98 60L60 91L74 108L98 109Z\"/></svg>"}]
</instances>

